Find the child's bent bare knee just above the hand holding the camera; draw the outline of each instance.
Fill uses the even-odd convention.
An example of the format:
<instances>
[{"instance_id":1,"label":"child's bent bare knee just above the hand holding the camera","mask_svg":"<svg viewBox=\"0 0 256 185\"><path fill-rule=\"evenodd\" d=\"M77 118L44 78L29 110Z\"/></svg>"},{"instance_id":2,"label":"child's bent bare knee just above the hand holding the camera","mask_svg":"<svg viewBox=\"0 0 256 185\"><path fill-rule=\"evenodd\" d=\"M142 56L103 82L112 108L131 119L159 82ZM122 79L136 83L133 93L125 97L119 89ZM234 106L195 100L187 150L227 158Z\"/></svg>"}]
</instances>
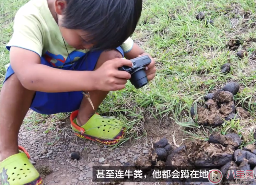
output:
<instances>
[{"instance_id":1,"label":"child's bent bare knee just above the hand holding the camera","mask_svg":"<svg viewBox=\"0 0 256 185\"><path fill-rule=\"evenodd\" d=\"M102 52L100 57L98 58L95 69L100 67L104 62L113 60L115 58L123 58L122 53L120 53L118 50L110 50L110 51Z\"/></svg>"}]
</instances>

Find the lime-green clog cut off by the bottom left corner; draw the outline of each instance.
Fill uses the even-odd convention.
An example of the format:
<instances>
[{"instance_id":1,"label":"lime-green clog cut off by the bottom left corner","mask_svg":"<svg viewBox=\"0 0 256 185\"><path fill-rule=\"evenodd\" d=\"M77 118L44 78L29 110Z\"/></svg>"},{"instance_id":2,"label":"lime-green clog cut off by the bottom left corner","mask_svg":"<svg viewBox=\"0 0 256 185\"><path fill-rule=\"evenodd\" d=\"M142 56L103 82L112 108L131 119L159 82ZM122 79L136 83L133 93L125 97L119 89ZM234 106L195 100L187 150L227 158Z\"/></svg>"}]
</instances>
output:
<instances>
[{"instance_id":1,"label":"lime-green clog cut off by the bottom left corner","mask_svg":"<svg viewBox=\"0 0 256 185\"><path fill-rule=\"evenodd\" d=\"M27 151L12 155L0 162L0 182L2 185L43 185L43 179L30 162Z\"/></svg>"}]
</instances>

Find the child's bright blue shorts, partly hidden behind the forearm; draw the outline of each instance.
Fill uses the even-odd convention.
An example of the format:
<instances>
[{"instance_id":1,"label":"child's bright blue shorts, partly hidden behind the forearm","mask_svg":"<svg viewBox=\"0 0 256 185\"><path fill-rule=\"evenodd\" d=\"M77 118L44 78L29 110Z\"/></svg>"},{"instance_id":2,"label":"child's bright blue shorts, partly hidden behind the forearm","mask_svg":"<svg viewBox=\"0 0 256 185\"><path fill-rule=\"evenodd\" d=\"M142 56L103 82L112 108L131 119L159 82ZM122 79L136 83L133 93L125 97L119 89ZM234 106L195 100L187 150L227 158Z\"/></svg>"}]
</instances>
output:
<instances>
[{"instance_id":1,"label":"child's bright blue shorts, partly hidden behind the forearm","mask_svg":"<svg viewBox=\"0 0 256 185\"><path fill-rule=\"evenodd\" d=\"M116 48L124 57L124 51L121 47ZM102 51L88 52L84 57L81 57L73 66L62 68L63 70L77 70L77 71L93 71L98 58ZM52 66L45 58L41 57L41 64ZM8 67L4 82L12 75L14 71L11 65ZM3 83L4 83L3 82ZM78 110L83 99L81 91L74 92L59 92L59 93L46 93L36 92L33 98L31 109L39 114L57 114L69 113Z\"/></svg>"}]
</instances>

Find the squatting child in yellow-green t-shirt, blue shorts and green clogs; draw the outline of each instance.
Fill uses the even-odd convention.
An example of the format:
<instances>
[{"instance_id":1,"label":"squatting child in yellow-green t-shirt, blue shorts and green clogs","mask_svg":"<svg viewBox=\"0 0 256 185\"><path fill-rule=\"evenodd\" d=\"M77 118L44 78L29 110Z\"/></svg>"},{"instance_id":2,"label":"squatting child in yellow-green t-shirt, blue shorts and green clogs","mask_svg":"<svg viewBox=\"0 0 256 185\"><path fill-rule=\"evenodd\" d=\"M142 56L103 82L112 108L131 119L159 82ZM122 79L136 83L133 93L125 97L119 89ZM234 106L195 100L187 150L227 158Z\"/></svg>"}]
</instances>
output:
<instances>
[{"instance_id":1,"label":"squatting child in yellow-green t-shirt, blue shorts and green clogs","mask_svg":"<svg viewBox=\"0 0 256 185\"><path fill-rule=\"evenodd\" d=\"M7 44L10 66L0 95L3 185L43 184L18 145L29 108L48 115L72 112L71 127L81 138L105 145L124 138L124 123L95 110L109 91L124 89L130 79L118 67L149 55L130 39L141 11L142 0L31 0L20 8ZM149 81L155 76L151 60Z\"/></svg>"}]
</instances>

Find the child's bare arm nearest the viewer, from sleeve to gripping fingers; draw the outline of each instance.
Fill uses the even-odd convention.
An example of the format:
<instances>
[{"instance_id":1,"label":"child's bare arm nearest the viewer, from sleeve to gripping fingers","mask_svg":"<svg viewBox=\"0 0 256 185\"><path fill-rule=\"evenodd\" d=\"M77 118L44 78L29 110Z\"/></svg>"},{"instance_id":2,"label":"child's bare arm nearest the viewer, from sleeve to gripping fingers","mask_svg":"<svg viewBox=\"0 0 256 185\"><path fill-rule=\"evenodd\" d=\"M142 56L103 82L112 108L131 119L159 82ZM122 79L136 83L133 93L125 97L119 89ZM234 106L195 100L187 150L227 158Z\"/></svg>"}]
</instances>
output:
<instances>
[{"instance_id":1,"label":"child's bare arm nearest the viewer, from sleeve to gripping fingers","mask_svg":"<svg viewBox=\"0 0 256 185\"><path fill-rule=\"evenodd\" d=\"M11 47L10 62L23 87L41 92L120 90L125 87L120 84L120 78L129 79L130 74L117 68L132 66L130 61L116 58L95 71L56 69L40 64L40 57L35 52L18 47Z\"/></svg>"}]
</instances>

